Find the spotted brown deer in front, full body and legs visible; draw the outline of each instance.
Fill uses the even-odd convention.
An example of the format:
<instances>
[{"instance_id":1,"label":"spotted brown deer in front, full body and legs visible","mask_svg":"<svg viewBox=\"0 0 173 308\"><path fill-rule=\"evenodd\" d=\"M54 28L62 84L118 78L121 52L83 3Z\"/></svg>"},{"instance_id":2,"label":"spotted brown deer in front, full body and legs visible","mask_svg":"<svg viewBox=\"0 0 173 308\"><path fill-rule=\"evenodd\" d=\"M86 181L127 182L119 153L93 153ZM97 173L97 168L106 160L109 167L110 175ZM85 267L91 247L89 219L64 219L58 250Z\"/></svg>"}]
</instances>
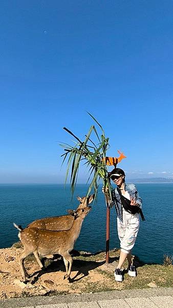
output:
<instances>
[{"instance_id":1,"label":"spotted brown deer in front, full body and legs visible","mask_svg":"<svg viewBox=\"0 0 173 308\"><path fill-rule=\"evenodd\" d=\"M29 277L24 266L24 260L30 254L34 254L41 268L43 266L38 255L61 255L66 266L66 275L64 278L70 279L73 259L69 252L71 252L74 247L74 243L80 234L82 222L90 209L91 206L86 206L76 211L69 210L69 214L74 216L73 225L69 230L53 231L39 228L26 228L22 230L19 226L14 224L19 230L18 237L24 245L24 253L19 258L20 271L24 282L26 282L26 278Z\"/></svg>"}]
</instances>

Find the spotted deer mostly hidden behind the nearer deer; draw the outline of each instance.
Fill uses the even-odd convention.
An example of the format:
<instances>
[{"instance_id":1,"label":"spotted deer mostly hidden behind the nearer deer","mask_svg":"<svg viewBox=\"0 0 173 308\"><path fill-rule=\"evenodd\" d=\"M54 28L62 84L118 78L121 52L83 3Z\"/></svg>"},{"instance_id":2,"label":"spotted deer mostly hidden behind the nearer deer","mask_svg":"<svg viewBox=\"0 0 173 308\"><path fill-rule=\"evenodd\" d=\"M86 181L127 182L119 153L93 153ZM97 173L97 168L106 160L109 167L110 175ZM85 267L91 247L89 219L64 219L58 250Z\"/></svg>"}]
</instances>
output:
<instances>
[{"instance_id":1,"label":"spotted deer mostly hidden behind the nearer deer","mask_svg":"<svg viewBox=\"0 0 173 308\"><path fill-rule=\"evenodd\" d=\"M84 208L88 204L90 204L95 195L91 195L89 197L77 197L77 200L80 202L78 208ZM77 210L76 209L76 210ZM64 216L56 216L56 217L47 217L42 219L37 219L31 222L27 228L39 228L39 229L49 229L49 230L68 230L72 227L74 222L74 216L64 215Z\"/></svg>"}]
</instances>

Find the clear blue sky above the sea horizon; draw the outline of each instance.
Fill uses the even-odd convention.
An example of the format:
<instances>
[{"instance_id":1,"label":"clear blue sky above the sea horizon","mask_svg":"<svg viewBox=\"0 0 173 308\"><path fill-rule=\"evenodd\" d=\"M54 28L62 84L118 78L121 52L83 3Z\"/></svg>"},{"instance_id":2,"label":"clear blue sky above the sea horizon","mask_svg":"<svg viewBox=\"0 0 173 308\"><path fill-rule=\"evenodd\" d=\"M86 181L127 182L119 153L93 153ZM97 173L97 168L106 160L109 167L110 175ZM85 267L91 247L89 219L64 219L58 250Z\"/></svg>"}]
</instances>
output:
<instances>
[{"instance_id":1,"label":"clear blue sky above the sea horizon","mask_svg":"<svg viewBox=\"0 0 173 308\"><path fill-rule=\"evenodd\" d=\"M173 177L172 1L1 1L0 183L62 183L91 112L129 179ZM79 182L85 182L82 169Z\"/></svg>"}]
</instances>

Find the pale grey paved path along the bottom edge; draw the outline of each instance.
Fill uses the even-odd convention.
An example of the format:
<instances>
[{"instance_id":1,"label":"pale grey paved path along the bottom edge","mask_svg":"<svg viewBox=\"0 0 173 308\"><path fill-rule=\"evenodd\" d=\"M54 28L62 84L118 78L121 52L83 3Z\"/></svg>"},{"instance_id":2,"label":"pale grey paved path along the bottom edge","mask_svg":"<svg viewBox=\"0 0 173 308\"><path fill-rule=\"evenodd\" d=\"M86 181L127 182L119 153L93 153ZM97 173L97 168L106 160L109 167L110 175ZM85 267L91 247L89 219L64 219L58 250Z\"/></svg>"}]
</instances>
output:
<instances>
[{"instance_id":1,"label":"pale grey paved path along the bottom edge","mask_svg":"<svg viewBox=\"0 0 173 308\"><path fill-rule=\"evenodd\" d=\"M173 308L173 287L0 300L2 308Z\"/></svg>"}]
</instances>

